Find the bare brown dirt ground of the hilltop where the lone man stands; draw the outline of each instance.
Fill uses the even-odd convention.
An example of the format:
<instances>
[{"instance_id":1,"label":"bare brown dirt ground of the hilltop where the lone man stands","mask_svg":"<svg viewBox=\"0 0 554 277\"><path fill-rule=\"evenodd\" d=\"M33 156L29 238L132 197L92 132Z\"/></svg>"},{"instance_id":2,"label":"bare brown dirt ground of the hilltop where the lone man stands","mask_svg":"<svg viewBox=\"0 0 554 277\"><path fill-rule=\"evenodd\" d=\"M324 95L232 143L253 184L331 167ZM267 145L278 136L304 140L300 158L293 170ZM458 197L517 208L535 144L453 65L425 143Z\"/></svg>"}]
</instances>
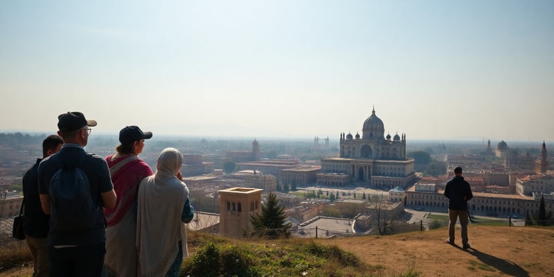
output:
<instances>
[{"instance_id":1,"label":"bare brown dirt ground of the hilltop where the lone man stands","mask_svg":"<svg viewBox=\"0 0 554 277\"><path fill-rule=\"evenodd\" d=\"M459 238L460 230L456 230ZM469 226L471 249L445 242L447 229L400 235L319 240L355 253L368 265L384 266L382 276L413 269L420 276L553 276L554 229ZM458 239L458 245L461 241ZM193 252L193 249L190 249ZM4 276L31 276L27 265Z\"/></svg>"}]
</instances>

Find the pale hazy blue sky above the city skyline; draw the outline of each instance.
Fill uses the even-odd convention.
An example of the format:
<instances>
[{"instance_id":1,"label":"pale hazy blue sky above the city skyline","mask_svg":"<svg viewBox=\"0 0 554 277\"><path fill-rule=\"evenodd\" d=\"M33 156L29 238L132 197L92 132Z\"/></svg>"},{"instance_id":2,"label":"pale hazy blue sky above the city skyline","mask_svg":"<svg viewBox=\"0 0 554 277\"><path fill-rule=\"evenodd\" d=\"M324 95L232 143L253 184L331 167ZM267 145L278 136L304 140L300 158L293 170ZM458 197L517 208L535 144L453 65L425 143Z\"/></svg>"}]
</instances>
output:
<instances>
[{"instance_id":1,"label":"pale hazy blue sky above the city skyline","mask_svg":"<svg viewBox=\"0 0 554 277\"><path fill-rule=\"evenodd\" d=\"M0 130L554 141L554 1L0 1Z\"/></svg>"}]
</instances>

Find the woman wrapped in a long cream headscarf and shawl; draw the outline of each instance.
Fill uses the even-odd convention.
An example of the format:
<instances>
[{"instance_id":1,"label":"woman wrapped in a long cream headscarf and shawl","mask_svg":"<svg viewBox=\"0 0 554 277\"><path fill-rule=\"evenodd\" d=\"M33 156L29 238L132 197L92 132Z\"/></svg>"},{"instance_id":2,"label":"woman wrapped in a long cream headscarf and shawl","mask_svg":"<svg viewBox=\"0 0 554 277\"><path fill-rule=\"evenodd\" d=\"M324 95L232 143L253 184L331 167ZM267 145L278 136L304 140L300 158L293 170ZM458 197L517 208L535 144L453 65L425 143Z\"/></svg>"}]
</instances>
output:
<instances>
[{"instance_id":1,"label":"woman wrapped in a long cream headscarf and shawl","mask_svg":"<svg viewBox=\"0 0 554 277\"><path fill-rule=\"evenodd\" d=\"M188 257L186 227L194 210L188 188L181 181L183 154L164 149L157 171L139 186L136 220L136 247L140 276L179 276L183 258Z\"/></svg>"}]
</instances>

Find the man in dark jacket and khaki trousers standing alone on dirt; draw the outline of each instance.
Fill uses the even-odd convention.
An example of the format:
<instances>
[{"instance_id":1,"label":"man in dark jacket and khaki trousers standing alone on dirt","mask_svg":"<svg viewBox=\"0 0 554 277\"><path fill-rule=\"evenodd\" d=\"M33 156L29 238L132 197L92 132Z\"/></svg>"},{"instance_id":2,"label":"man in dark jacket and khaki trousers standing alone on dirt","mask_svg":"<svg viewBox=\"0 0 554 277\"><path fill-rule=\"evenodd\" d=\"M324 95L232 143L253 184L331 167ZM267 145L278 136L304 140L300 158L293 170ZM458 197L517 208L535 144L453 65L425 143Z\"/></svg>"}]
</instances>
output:
<instances>
[{"instance_id":1,"label":"man in dark jacket and khaki trousers standing alone on dirt","mask_svg":"<svg viewBox=\"0 0 554 277\"><path fill-rule=\"evenodd\" d=\"M470 183L467 183L462 177L462 168L457 166L454 168L454 177L447 181L445 187L445 197L448 198L448 240L449 244L454 244L454 226L456 220L460 218L462 227L462 247L463 249L470 248L467 238L467 222L469 215L467 213L467 201L473 198L472 188Z\"/></svg>"}]
</instances>

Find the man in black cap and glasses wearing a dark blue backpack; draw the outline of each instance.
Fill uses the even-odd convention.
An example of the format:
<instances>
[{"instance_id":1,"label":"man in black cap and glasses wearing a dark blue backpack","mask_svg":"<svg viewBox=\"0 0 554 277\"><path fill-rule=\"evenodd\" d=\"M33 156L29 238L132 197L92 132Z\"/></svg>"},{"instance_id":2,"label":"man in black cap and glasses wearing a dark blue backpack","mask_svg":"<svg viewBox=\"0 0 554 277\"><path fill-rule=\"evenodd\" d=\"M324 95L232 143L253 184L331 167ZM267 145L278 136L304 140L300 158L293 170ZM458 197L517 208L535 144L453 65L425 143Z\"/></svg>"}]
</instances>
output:
<instances>
[{"instance_id":1,"label":"man in black cap and glasses wearing a dark blue backpack","mask_svg":"<svg viewBox=\"0 0 554 277\"><path fill-rule=\"evenodd\" d=\"M64 145L39 164L39 197L50 216L51 276L100 276L106 253L102 206L114 208L116 193L104 158L84 150L95 120L78 111L57 117Z\"/></svg>"}]
</instances>

